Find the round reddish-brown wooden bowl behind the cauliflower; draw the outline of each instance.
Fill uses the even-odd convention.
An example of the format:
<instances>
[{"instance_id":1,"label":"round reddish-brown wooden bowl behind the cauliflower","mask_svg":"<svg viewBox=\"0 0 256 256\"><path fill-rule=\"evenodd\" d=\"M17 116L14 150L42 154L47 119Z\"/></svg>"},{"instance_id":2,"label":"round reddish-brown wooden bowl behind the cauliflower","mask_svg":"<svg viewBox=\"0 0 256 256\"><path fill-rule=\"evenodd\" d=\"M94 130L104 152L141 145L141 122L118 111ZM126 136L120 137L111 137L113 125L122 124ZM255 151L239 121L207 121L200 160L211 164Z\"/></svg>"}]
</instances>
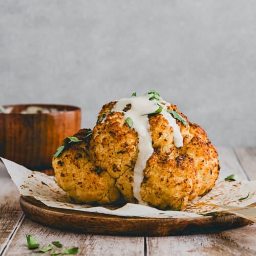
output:
<instances>
[{"instance_id":1,"label":"round reddish-brown wooden bowl behind the cauliflower","mask_svg":"<svg viewBox=\"0 0 256 256\"><path fill-rule=\"evenodd\" d=\"M55 109L57 113L21 114L29 106ZM81 109L59 104L20 104L10 114L0 113L0 156L30 169L52 167L52 157L62 140L81 126Z\"/></svg>"}]
</instances>

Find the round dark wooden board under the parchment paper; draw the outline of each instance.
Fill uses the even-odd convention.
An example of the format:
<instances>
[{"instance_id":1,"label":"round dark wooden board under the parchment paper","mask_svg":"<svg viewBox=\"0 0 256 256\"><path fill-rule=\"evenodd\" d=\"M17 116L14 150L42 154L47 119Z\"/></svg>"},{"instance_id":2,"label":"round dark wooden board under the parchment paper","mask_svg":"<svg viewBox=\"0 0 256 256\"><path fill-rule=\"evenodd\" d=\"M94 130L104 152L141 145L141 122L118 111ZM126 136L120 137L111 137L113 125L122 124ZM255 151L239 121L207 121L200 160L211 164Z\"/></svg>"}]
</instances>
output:
<instances>
[{"instance_id":1,"label":"round dark wooden board under the parchment paper","mask_svg":"<svg viewBox=\"0 0 256 256\"><path fill-rule=\"evenodd\" d=\"M209 233L251 223L234 215L179 219L119 217L48 207L30 197L21 197L20 205L28 218L42 225L79 233L115 236L172 236Z\"/></svg>"}]
</instances>

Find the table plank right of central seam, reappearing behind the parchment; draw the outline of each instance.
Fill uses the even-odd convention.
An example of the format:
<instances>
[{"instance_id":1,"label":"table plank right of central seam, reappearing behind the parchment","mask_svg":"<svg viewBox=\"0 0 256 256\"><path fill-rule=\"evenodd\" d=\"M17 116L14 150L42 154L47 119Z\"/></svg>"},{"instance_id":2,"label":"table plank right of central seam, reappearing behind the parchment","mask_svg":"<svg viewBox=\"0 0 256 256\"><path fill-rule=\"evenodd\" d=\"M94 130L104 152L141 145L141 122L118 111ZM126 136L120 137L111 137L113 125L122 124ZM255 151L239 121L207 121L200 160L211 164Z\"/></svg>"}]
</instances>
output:
<instances>
[{"instance_id":1,"label":"table plank right of central seam, reappearing behind the parchment","mask_svg":"<svg viewBox=\"0 0 256 256\"><path fill-rule=\"evenodd\" d=\"M219 147L217 150L221 165L219 179L230 174L247 179L233 148ZM255 233L254 223L218 233L147 238L147 255L255 255Z\"/></svg>"}]
</instances>

